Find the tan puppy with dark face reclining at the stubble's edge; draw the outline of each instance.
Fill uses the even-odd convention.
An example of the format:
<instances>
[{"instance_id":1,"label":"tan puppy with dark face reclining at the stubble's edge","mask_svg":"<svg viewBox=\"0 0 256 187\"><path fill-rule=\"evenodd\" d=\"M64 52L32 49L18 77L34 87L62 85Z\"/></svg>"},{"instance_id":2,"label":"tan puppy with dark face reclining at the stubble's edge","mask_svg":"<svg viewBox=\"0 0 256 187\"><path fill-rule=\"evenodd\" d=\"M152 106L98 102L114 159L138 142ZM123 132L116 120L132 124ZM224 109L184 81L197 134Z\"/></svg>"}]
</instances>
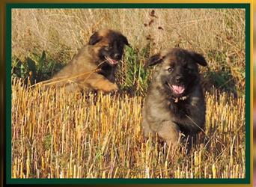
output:
<instances>
[{"instance_id":1,"label":"tan puppy with dark face reclining at the stubble's edge","mask_svg":"<svg viewBox=\"0 0 256 187\"><path fill-rule=\"evenodd\" d=\"M69 92L117 91L115 69L121 60L127 37L118 31L102 29L91 35L69 64L52 77L52 83Z\"/></svg>"}]
</instances>

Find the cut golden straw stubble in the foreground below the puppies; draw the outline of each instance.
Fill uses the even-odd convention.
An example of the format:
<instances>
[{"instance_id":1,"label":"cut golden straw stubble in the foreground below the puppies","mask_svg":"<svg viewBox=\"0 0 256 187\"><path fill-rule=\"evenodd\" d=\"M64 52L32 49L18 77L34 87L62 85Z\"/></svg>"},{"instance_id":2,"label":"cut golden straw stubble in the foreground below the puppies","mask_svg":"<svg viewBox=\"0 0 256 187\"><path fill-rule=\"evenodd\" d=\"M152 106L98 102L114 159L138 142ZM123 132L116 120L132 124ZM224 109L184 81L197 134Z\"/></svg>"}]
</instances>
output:
<instances>
[{"instance_id":1,"label":"cut golden straw stubble in the foreground below the puppies","mask_svg":"<svg viewBox=\"0 0 256 187\"><path fill-rule=\"evenodd\" d=\"M186 153L144 140L141 96L12 91L14 178L245 177L244 97L207 94L209 139Z\"/></svg>"}]
</instances>

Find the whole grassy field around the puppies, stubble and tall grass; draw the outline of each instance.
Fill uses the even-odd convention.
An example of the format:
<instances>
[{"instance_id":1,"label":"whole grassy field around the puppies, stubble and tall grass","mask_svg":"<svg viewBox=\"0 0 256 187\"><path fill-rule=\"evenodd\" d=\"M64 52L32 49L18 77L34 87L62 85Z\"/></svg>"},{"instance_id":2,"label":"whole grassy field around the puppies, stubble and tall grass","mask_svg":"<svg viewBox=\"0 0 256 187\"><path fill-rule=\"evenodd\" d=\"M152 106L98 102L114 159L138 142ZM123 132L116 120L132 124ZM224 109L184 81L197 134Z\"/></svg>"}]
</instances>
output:
<instances>
[{"instance_id":1,"label":"whole grassy field around the puppies, stubble and tall grass","mask_svg":"<svg viewBox=\"0 0 256 187\"><path fill-rule=\"evenodd\" d=\"M13 10L13 178L245 177L244 11L156 10L153 22L150 13ZM26 85L28 78L52 76L56 67L46 65L66 64L91 31L106 25L124 33L132 46L118 69L120 93L67 94ZM143 62L177 45L203 53L209 65L201 69L206 127L190 152L143 138L140 126L151 78Z\"/></svg>"}]
</instances>

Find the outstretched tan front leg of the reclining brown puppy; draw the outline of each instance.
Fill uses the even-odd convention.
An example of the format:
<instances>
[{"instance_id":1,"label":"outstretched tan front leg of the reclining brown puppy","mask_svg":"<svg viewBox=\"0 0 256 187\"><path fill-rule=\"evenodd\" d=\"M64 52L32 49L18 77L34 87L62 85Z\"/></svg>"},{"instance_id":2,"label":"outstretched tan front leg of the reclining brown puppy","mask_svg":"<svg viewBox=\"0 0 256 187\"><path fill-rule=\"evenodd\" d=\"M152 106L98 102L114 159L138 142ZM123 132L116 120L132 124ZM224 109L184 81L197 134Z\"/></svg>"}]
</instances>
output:
<instances>
[{"instance_id":1,"label":"outstretched tan front leg of the reclining brown puppy","mask_svg":"<svg viewBox=\"0 0 256 187\"><path fill-rule=\"evenodd\" d=\"M88 77L86 83L97 91L118 91L118 85L110 82L105 76L98 73L93 73L90 77Z\"/></svg>"}]
</instances>

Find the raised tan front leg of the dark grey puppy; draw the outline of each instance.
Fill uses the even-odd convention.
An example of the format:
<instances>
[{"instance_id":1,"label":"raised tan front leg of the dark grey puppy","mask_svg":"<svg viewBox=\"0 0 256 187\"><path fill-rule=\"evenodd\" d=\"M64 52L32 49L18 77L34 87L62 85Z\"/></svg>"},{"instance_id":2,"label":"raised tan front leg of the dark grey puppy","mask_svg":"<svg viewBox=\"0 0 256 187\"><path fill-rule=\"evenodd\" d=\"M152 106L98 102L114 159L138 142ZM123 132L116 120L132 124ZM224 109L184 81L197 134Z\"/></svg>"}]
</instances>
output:
<instances>
[{"instance_id":1,"label":"raised tan front leg of the dark grey puppy","mask_svg":"<svg viewBox=\"0 0 256 187\"><path fill-rule=\"evenodd\" d=\"M159 134L160 138L166 141L168 146L170 144L175 146L179 143L180 128L176 123L164 121L157 133Z\"/></svg>"}]
</instances>

